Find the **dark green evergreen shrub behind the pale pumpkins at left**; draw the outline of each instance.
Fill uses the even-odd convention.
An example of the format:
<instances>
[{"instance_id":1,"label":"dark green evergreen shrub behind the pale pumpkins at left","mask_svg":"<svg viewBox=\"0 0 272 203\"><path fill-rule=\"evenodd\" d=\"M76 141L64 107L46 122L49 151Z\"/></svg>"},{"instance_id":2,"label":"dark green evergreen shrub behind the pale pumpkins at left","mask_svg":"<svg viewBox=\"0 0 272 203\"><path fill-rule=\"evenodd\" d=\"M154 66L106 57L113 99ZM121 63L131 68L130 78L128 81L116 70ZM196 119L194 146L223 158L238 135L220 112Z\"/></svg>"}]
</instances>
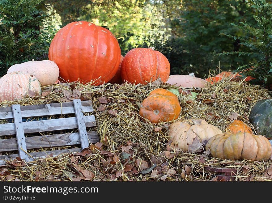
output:
<instances>
[{"instance_id":1,"label":"dark green evergreen shrub behind the pale pumpkins at left","mask_svg":"<svg viewBox=\"0 0 272 203\"><path fill-rule=\"evenodd\" d=\"M0 0L0 76L16 63L48 59L55 33L44 23L43 12L36 9L41 0Z\"/></svg>"}]
</instances>

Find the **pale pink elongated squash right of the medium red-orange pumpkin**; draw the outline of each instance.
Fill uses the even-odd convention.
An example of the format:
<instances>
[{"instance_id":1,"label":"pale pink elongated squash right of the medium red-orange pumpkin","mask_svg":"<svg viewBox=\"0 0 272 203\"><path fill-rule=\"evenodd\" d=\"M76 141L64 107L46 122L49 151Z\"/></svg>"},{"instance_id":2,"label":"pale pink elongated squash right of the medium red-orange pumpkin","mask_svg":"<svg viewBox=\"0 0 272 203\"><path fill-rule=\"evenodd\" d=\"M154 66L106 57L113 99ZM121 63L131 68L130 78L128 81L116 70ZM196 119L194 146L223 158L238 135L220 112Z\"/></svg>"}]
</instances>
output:
<instances>
[{"instance_id":1,"label":"pale pink elongated squash right of the medium red-orange pumpkin","mask_svg":"<svg viewBox=\"0 0 272 203\"><path fill-rule=\"evenodd\" d=\"M176 87L185 88L205 87L207 85L206 80L191 75L170 75L167 83Z\"/></svg>"}]
</instances>

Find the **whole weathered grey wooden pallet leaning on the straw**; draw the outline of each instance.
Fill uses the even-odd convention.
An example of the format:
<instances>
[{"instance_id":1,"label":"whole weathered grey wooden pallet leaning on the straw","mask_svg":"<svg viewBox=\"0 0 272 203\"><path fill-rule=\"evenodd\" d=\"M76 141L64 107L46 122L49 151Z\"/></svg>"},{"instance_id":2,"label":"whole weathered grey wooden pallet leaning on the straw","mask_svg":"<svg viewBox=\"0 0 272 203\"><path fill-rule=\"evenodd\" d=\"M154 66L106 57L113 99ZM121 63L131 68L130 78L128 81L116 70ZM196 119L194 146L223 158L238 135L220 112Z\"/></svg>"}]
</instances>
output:
<instances>
[{"instance_id":1,"label":"whole weathered grey wooden pallet leaning on the straw","mask_svg":"<svg viewBox=\"0 0 272 203\"><path fill-rule=\"evenodd\" d=\"M96 121L93 115L84 116L84 113L93 112L91 101L74 99L73 102L40 104L0 108L0 119L13 119L13 123L0 124L0 152L18 150L19 154L1 155L0 165L6 160L20 157L25 161L32 161L36 158L47 155L57 156L62 153L81 151L87 148L90 143L99 142L96 131L87 132L86 127L95 127ZM75 114L67 118L56 118L39 121L25 121L24 118L40 116L57 116ZM25 133L48 132L55 130L78 129L76 133L50 134L25 137ZM16 135L16 138L2 139L3 136ZM51 150L28 153L28 149L39 149L45 147L70 146L81 144L81 148L65 150Z\"/></svg>"}]
</instances>

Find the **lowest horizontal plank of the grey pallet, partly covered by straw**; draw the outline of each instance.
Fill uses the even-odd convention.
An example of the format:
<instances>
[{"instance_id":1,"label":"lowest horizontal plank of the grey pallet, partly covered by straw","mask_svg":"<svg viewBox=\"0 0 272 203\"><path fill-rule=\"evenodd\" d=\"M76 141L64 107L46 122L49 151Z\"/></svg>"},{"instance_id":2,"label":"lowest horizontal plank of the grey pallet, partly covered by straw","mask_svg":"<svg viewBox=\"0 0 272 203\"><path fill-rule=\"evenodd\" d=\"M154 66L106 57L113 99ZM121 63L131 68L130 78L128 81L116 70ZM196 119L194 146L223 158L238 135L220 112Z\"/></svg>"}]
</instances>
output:
<instances>
[{"instance_id":1,"label":"lowest horizontal plank of the grey pallet, partly covered by straw","mask_svg":"<svg viewBox=\"0 0 272 203\"><path fill-rule=\"evenodd\" d=\"M74 153L81 152L81 148L73 148L73 149L65 149L65 150L53 150L53 151L41 151L41 152L31 152L29 153L33 158L45 158L47 155L53 155L53 157L58 156L63 153ZM32 157L29 157L29 161L34 161ZM0 156L0 166L6 165L6 160L15 159L19 157L19 154L11 154L11 155L2 155Z\"/></svg>"}]
</instances>

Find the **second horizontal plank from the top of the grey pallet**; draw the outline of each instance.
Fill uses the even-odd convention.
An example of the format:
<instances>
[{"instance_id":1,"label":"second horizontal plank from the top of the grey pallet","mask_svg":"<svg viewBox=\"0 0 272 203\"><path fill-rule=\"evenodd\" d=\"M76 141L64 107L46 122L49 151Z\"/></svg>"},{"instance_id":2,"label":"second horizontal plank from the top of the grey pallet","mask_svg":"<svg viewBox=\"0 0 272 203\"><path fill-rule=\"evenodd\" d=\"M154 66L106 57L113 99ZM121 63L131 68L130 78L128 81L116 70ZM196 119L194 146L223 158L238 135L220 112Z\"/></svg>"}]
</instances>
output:
<instances>
[{"instance_id":1,"label":"second horizontal plank from the top of the grey pallet","mask_svg":"<svg viewBox=\"0 0 272 203\"><path fill-rule=\"evenodd\" d=\"M86 127L96 126L96 120L93 115L84 116L84 122ZM77 127L78 125L75 117L23 122L23 129L25 134L53 130L75 129ZM14 123L5 123L0 125L0 136L14 134Z\"/></svg>"}]
</instances>

